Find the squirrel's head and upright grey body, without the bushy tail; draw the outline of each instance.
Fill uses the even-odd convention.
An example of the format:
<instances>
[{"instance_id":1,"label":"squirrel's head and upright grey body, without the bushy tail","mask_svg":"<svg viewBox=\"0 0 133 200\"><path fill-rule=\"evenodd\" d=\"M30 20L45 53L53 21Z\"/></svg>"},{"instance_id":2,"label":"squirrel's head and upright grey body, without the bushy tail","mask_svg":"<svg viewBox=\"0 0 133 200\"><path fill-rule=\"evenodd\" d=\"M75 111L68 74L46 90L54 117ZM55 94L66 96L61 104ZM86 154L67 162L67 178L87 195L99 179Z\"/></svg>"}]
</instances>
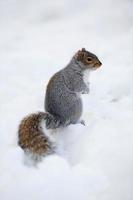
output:
<instances>
[{"instance_id":1,"label":"squirrel's head and upright grey body, without the bushy tail","mask_svg":"<svg viewBox=\"0 0 133 200\"><path fill-rule=\"evenodd\" d=\"M64 69L50 79L45 96L45 110L51 114L51 118L46 120L48 129L76 123L84 124L80 119L82 115L80 96L89 93L85 75L101 65L96 55L82 48Z\"/></svg>"}]
</instances>

